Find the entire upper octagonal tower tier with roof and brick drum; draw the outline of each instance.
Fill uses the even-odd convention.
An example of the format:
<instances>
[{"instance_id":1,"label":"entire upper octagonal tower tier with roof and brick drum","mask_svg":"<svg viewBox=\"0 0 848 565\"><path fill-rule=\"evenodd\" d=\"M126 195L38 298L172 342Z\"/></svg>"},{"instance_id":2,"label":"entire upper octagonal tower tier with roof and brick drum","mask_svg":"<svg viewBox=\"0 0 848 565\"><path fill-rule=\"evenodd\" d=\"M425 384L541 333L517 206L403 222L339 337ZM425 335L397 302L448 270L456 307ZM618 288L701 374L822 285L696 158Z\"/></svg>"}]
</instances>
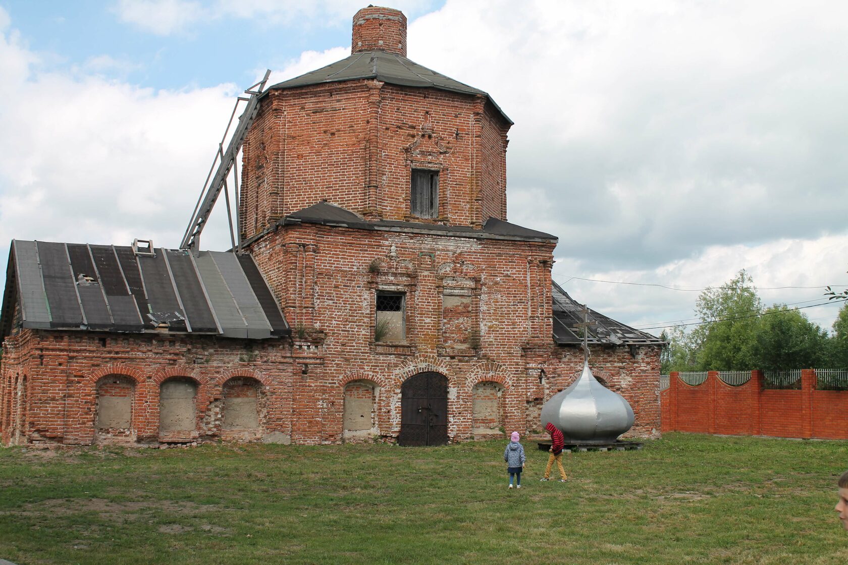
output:
<instances>
[{"instance_id":1,"label":"entire upper octagonal tower tier with roof and brick drum","mask_svg":"<svg viewBox=\"0 0 848 565\"><path fill-rule=\"evenodd\" d=\"M366 220L505 220L512 122L492 98L407 58L399 10L360 9L351 52L265 91L243 147L248 246L322 201Z\"/></svg>"}]
</instances>

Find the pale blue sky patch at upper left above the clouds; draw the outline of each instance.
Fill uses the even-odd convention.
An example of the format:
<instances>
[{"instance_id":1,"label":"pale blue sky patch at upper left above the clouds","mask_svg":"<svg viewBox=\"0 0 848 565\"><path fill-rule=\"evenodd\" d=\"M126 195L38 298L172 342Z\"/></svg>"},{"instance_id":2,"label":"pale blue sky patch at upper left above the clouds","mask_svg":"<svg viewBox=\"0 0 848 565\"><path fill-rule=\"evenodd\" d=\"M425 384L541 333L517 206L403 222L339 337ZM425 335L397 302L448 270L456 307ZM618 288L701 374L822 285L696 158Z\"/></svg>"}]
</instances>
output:
<instances>
[{"instance_id":1,"label":"pale blue sky patch at upper left above the clouds","mask_svg":"<svg viewBox=\"0 0 848 565\"><path fill-rule=\"evenodd\" d=\"M279 4L285 8L285 3ZM414 3L406 14L414 18L443 4ZM30 0L4 1L0 6L33 51L49 53L44 70L83 67L108 55L123 65L101 72L138 85L177 90L222 82L248 84L255 69L282 68L304 50L347 46L353 16L325 12L290 25L223 14L165 34L127 21L117 2Z\"/></svg>"}]
</instances>

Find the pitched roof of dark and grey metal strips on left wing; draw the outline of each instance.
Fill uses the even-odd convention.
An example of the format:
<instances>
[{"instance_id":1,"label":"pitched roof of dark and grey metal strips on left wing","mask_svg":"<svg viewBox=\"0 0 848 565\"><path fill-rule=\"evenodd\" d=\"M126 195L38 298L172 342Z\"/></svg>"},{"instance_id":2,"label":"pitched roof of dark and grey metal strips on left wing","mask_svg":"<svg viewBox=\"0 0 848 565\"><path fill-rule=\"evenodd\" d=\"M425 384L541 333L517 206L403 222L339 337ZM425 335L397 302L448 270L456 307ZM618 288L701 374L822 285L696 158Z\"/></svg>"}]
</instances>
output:
<instances>
[{"instance_id":1,"label":"pitched roof of dark and grey metal strips on left wing","mask_svg":"<svg viewBox=\"0 0 848 565\"><path fill-rule=\"evenodd\" d=\"M291 330L253 258L226 252L12 241L3 296L5 335L20 301L32 329L265 339ZM10 307L11 306L11 307Z\"/></svg>"}]
</instances>

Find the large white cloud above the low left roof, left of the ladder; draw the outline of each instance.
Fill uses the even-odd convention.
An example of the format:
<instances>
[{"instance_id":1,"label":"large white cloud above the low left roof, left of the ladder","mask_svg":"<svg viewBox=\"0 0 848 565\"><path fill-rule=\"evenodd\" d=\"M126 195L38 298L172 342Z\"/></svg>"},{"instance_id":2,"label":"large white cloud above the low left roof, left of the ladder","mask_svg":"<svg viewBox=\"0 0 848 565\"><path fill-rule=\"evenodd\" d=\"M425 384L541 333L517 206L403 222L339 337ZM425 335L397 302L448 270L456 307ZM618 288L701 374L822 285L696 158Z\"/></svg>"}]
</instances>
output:
<instances>
[{"instance_id":1,"label":"large white cloud above the low left roof, left of the ladder","mask_svg":"<svg viewBox=\"0 0 848 565\"><path fill-rule=\"evenodd\" d=\"M38 61L14 31L0 36L0 249L12 238L176 246L234 87L153 91L41 73Z\"/></svg>"}]
</instances>

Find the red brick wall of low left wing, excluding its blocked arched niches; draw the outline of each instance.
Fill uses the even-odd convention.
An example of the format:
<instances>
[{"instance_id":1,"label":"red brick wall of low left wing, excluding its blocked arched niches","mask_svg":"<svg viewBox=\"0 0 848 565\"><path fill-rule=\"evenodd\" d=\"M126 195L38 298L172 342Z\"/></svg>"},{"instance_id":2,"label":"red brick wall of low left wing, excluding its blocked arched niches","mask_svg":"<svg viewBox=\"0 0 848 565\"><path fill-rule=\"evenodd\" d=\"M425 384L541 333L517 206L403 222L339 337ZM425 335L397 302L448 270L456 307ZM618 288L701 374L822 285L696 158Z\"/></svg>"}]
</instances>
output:
<instances>
[{"instance_id":1,"label":"red brick wall of low left wing, excluding its blocked arched niches","mask_svg":"<svg viewBox=\"0 0 848 565\"><path fill-rule=\"evenodd\" d=\"M8 415L10 381L29 368L22 438L16 439L14 427L4 424L0 432L5 445L98 440L94 428L97 385L107 375L125 375L135 383L129 433L142 443L161 439L159 385L172 377L187 377L198 384L198 440L220 437L223 387L230 379L243 377L260 381L275 398L265 414L266 434L291 435L292 373L299 367L293 365L291 346L285 342L23 330L8 337L3 346L0 401L5 413L0 421L5 422Z\"/></svg>"}]
</instances>

